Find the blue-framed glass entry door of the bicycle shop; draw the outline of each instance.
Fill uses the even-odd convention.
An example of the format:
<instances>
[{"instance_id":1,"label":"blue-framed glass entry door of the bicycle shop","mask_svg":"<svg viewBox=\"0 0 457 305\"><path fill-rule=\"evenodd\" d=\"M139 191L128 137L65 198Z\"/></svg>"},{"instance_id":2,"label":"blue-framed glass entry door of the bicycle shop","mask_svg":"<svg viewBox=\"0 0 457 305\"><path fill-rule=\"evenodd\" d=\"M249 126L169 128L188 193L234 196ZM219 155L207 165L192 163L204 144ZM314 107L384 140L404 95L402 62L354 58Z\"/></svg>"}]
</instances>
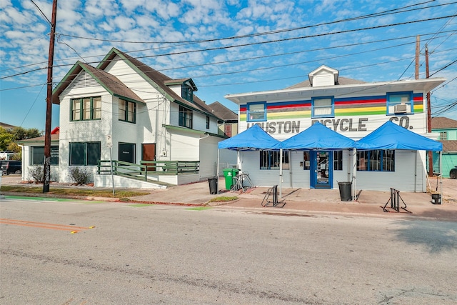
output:
<instances>
[{"instance_id":1,"label":"blue-framed glass entry door of the bicycle shop","mask_svg":"<svg viewBox=\"0 0 457 305\"><path fill-rule=\"evenodd\" d=\"M313 169L311 169L311 187L331 189L333 161L330 151L312 151Z\"/></svg>"}]
</instances>

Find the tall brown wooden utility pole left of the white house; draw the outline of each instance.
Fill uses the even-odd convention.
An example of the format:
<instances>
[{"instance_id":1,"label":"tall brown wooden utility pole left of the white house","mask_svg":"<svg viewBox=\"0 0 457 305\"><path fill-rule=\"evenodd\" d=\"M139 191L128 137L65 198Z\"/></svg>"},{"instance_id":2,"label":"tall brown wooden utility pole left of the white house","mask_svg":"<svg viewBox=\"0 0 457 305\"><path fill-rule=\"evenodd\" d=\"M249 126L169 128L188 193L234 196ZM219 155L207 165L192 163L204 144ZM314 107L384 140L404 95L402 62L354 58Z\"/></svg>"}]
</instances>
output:
<instances>
[{"instance_id":1,"label":"tall brown wooden utility pole left of the white house","mask_svg":"<svg viewBox=\"0 0 457 305\"><path fill-rule=\"evenodd\" d=\"M54 65L54 39L56 36L57 0L52 1L51 32L49 33L48 80L46 94L46 129L44 131L44 182L43 193L49 191L51 181L51 117L52 117L52 67Z\"/></svg>"}]
</instances>

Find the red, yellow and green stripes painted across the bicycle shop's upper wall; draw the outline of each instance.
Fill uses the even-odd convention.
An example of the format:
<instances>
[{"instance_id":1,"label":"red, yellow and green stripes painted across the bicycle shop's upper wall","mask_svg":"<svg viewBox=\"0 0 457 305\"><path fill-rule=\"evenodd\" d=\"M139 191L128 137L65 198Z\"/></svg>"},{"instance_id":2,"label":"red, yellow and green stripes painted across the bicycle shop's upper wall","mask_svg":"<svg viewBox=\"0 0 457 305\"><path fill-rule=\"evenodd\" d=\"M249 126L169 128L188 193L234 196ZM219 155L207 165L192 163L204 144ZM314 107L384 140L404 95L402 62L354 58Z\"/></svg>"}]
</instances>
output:
<instances>
[{"instance_id":1,"label":"red, yellow and green stripes painted across the bicycle shop's upper wall","mask_svg":"<svg viewBox=\"0 0 457 305\"><path fill-rule=\"evenodd\" d=\"M370 116L386 114L387 98L360 96L334 100L335 116ZM414 113L423 112L423 94L413 94ZM267 120L311 118L311 100L283 101L266 104ZM240 105L240 121L246 121L247 105Z\"/></svg>"}]
</instances>

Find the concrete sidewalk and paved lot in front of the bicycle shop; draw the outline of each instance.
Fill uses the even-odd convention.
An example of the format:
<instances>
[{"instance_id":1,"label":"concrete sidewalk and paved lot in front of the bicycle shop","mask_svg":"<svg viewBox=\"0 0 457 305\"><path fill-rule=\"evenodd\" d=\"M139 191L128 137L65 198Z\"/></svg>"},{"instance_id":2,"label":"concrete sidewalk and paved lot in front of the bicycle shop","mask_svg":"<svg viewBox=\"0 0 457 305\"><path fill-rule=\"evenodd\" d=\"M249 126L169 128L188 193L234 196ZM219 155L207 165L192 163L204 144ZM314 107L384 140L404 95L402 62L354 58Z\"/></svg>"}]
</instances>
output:
<instances>
[{"instance_id":1,"label":"concrete sidewalk and paved lot in front of the bicycle shop","mask_svg":"<svg viewBox=\"0 0 457 305\"><path fill-rule=\"evenodd\" d=\"M20 176L3 176L2 185L22 185ZM433 181L436 187L436 181ZM52 184L51 187L76 187L69 184ZM93 187L88 187L93 189ZM413 217L457 221L457 179L443 179L442 204L432 204L431 194L401 192L400 206L406 205L400 212L382 207L391 206L390 191L361 191L356 201L341 201L338 189L291 189L281 191L283 207L262 206L268 187L253 187L246 191L227 191L224 178L219 179L219 194L210 194L209 182L171 186L168 189L141 189L149 194L129 198L131 201L150 204L179 204L189 206L213 206L221 209L250 209L272 214L352 214L364 216ZM439 190L439 189L438 189ZM359 191L359 190L358 190ZM279 192L279 190L278 190ZM39 196L46 196L38 194ZM31 195L29 195L31 196ZM210 202L221 196L236 196L234 201ZM89 199L89 198L87 198ZM108 199L107 199L108 200ZM113 199L109 199L113 201ZM272 201L273 199L269 199ZM404 201L404 204L403 204ZM282 206L279 204L278 206ZM411 213L409 213L409 212Z\"/></svg>"}]
</instances>

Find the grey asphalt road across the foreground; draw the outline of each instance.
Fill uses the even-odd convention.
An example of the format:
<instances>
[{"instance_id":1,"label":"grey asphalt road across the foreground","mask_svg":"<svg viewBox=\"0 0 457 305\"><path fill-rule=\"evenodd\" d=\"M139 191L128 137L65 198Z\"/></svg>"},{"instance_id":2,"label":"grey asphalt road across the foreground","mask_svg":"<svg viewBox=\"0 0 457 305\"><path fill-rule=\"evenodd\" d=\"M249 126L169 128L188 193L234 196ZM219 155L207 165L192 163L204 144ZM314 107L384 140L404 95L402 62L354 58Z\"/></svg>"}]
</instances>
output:
<instances>
[{"instance_id":1,"label":"grey asphalt road across the foreground","mask_svg":"<svg viewBox=\"0 0 457 305\"><path fill-rule=\"evenodd\" d=\"M0 213L0 304L457 302L455 222L9 197Z\"/></svg>"}]
</instances>

